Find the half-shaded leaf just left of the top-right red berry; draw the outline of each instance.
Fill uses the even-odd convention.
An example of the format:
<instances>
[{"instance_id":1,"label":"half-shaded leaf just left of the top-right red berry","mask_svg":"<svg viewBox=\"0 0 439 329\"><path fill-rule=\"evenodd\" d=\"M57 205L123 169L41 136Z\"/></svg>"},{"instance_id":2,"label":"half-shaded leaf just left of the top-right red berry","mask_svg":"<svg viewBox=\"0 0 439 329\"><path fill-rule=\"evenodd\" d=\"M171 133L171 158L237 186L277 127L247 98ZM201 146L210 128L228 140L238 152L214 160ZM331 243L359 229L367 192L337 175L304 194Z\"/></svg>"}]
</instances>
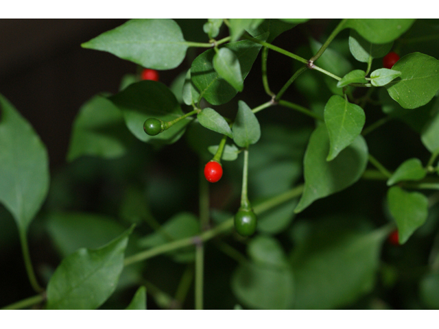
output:
<instances>
[{"instance_id":1,"label":"half-shaded leaf just left of the top-right red berry","mask_svg":"<svg viewBox=\"0 0 439 329\"><path fill-rule=\"evenodd\" d=\"M355 29L349 35L349 50L359 62L367 63L372 58L381 58L392 49L393 41L377 45L361 37Z\"/></svg>"}]
</instances>

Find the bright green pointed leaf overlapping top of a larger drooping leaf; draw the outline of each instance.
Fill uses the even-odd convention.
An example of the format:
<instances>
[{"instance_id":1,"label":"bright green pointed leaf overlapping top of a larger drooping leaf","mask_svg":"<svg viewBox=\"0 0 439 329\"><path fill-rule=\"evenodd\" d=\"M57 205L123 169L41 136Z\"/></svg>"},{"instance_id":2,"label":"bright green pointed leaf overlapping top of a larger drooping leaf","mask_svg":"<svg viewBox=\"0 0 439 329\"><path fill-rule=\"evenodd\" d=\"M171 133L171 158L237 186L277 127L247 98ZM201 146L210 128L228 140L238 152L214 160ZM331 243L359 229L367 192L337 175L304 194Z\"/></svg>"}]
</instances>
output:
<instances>
[{"instance_id":1,"label":"bright green pointed leaf overlapping top of a larger drooping leaf","mask_svg":"<svg viewBox=\"0 0 439 329\"><path fill-rule=\"evenodd\" d=\"M333 160L343 149L351 145L361 133L366 115L359 106L334 95L324 107L324 123L329 133L330 149L327 161Z\"/></svg>"}]
</instances>

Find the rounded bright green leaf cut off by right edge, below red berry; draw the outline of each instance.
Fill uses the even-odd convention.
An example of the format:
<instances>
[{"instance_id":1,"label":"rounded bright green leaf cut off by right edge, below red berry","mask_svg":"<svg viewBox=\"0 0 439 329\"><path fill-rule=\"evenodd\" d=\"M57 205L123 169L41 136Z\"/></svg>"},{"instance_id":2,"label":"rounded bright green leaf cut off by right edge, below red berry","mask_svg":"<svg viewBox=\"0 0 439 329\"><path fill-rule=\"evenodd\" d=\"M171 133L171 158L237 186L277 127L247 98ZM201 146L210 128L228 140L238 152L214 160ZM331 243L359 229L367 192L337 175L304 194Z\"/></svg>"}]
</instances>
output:
<instances>
[{"instance_id":1,"label":"rounded bright green leaf cut off by right edge, below red berry","mask_svg":"<svg viewBox=\"0 0 439 329\"><path fill-rule=\"evenodd\" d=\"M439 90L439 60L423 53L410 53L392 67L401 71L401 77L385 86L403 108L418 108Z\"/></svg>"}]
</instances>

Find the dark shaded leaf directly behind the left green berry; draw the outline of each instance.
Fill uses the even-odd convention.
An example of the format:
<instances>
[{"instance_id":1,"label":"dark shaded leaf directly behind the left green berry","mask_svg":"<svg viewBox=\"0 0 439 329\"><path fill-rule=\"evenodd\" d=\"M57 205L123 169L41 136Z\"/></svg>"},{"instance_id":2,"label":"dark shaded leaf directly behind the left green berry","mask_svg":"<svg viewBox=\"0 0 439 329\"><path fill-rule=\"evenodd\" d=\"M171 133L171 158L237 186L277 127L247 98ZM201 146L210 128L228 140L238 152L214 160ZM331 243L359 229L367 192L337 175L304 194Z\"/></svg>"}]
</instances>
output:
<instances>
[{"instance_id":1,"label":"dark shaded leaf directly behind the left green berry","mask_svg":"<svg viewBox=\"0 0 439 329\"><path fill-rule=\"evenodd\" d=\"M143 123L146 119L171 121L183 115L176 97L161 82L137 82L108 99L122 111L130 132L143 142L174 143L184 134L186 125L191 122L189 118L182 119L156 136L145 134Z\"/></svg>"}]
</instances>

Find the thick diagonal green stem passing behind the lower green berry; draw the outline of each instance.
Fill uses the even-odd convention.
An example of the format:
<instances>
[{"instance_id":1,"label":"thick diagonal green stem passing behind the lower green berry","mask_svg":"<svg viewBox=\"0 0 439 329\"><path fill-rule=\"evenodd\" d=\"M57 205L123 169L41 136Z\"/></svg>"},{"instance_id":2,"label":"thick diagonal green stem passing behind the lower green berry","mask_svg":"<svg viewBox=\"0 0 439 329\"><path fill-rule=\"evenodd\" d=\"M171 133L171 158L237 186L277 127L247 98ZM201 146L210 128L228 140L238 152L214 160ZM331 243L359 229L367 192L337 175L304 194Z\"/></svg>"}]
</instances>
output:
<instances>
[{"instance_id":1,"label":"thick diagonal green stem passing behind the lower green berry","mask_svg":"<svg viewBox=\"0 0 439 329\"><path fill-rule=\"evenodd\" d=\"M292 190L284 192L280 195L276 195L266 200L265 202L262 202L261 204L254 206L253 210L256 213L256 215L259 215L261 212L274 208L279 204L282 204L283 202L287 202L289 199L294 199L294 197L298 197L302 193L302 191L303 191L303 185L296 186L295 188L292 188ZM212 228L211 230L202 232L199 236L191 236L189 238L171 241L169 243L165 243L164 245L159 245L157 247L147 249L143 252L139 252L138 254L134 254L130 257L125 258L123 264L124 266L128 266L137 262L141 262L142 260L152 258L154 256L165 254L166 252L171 252L173 250L180 249L182 247L187 247L189 245L197 244L200 241L206 242L214 238L215 236L218 236L219 234L231 230L232 228L233 228L233 217L227 219L226 221L222 222L218 226L215 226L215 228Z\"/></svg>"}]
</instances>

